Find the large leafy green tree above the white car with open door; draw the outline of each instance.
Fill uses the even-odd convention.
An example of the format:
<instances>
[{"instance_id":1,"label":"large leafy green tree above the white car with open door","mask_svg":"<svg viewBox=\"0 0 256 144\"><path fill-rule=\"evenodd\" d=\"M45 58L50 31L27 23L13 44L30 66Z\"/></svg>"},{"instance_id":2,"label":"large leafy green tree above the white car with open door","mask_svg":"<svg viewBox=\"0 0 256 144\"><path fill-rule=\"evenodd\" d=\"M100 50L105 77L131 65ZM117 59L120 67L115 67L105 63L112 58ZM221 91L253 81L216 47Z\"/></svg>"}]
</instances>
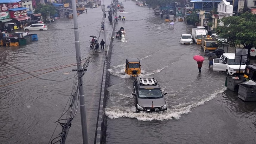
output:
<instances>
[{"instance_id":1,"label":"large leafy green tree above the white car with open door","mask_svg":"<svg viewBox=\"0 0 256 144\"><path fill-rule=\"evenodd\" d=\"M216 33L220 37L227 38L232 47L243 45L248 49L249 57L251 47L256 46L255 14L246 12L239 16L224 17L220 21L223 25L217 26Z\"/></svg>"}]
</instances>

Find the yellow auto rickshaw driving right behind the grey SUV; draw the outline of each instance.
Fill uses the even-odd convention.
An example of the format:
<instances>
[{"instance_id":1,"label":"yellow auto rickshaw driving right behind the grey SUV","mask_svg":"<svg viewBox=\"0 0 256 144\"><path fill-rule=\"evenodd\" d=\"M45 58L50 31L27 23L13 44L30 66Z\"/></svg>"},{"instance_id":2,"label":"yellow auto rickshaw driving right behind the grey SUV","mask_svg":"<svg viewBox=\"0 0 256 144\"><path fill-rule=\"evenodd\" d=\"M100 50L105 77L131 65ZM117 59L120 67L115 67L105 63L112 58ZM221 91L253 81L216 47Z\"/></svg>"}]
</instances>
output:
<instances>
[{"instance_id":1,"label":"yellow auto rickshaw driving right behind the grey SUV","mask_svg":"<svg viewBox=\"0 0 256 144\"><path fill-rule=\"evenodd\" d=\"M126 59L124 71L128 75L136 77L138 74L140 74L140 66L140 59Z\"/></svg>"}]
</instances>

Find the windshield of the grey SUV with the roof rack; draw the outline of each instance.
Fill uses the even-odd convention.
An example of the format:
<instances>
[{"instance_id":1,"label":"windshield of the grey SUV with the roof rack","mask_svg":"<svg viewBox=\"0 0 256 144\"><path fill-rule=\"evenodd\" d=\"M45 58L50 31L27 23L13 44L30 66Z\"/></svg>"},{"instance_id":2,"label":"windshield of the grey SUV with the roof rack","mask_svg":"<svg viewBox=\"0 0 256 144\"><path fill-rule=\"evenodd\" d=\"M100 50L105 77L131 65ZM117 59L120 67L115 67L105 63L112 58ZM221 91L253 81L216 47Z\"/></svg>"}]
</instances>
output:
<instances>
[{"instance_id":1,"label":"windshield of the grey SUV with the roof rack","mask_svg":"<svg viewBox=\"0 0 256 144\"><path fill-rule=\"evenodd\" d=\"M160 89L145 88L139 90L139 98L162 98L162 92Z\"/></svg>"}]
</instances>

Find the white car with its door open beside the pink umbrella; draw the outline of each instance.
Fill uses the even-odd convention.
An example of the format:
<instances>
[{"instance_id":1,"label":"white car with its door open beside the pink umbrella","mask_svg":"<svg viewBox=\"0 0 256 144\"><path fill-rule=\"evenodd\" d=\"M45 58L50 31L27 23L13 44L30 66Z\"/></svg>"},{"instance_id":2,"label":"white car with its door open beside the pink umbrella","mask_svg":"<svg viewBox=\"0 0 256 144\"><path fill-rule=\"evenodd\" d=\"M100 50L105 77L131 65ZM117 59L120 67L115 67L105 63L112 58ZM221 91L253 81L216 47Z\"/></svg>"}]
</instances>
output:
<instances>
[{"instance_id":1,"label":"white car with its door open beside the pink umbrella","mask_svg":"<svg viewBox=\"0 0 256 144\"><path fill-rule=\"evenodd\" d=\"M224 71L227 75L244 73L245 63L235 62L235 53L223 53L220 58L213 58L213 71Z\"/></svg>"}]
</instances>

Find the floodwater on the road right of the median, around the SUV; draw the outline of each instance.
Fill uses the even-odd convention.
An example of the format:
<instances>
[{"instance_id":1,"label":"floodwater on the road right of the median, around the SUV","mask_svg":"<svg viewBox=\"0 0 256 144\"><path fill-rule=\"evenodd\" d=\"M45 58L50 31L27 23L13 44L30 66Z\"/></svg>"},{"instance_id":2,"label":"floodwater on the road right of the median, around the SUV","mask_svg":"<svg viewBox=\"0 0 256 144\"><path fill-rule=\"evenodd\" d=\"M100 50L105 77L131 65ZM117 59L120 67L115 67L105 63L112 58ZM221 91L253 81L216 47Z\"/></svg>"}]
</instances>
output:
<instances>
[{"instance_id":1,"label":"floodwater on the road right of the median, around the SUV","mask_svg":"<svg viewBox=\"0 0 256 144\"><path fill-rule=\"evenodd\" d=\"M243 102L225 87L225 72L209 70L205 58L202 72L194 55L204 55L200 45L181 45L180 35L191 26L175 27L155 16L152 9L122 2L126 33L113 42L107 114L107 144L248 143L256 141L256 103ZM229 49L229 52L234 50ZM168 105L163 113L135 113L134 78L124 74L126 58L141 60L140 76L155 77Z\"/></svg>"}]
</instances>

